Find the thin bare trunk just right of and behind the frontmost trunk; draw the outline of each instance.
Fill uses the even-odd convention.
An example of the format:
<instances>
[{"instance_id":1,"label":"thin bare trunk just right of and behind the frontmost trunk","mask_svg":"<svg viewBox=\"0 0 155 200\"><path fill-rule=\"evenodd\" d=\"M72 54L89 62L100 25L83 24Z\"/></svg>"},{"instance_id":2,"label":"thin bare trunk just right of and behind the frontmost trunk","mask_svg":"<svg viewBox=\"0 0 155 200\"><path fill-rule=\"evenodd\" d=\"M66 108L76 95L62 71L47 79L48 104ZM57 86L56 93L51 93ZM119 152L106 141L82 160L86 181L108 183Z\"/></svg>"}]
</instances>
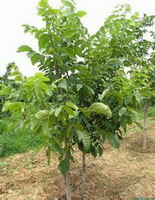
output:
<instances>
[{"instance_id":1,"label":"thin bare trunk just right of and behind the frontmost trunk","mask_svg":"<svg viewBox=\"0 0 155 200\"><path fill-rule=\"evenodd\" d=\"M82 152L82 196L86 192L86 154Z\"/></svg>"}]
</instances>

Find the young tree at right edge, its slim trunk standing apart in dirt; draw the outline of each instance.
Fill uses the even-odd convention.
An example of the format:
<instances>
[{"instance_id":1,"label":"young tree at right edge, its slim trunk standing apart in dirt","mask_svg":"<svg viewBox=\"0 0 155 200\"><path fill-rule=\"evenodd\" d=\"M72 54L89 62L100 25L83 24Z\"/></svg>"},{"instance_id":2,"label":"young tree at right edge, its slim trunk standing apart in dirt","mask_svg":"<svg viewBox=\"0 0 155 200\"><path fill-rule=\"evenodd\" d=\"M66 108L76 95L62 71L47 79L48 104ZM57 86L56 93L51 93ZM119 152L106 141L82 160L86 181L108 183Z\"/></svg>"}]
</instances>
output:
<instances>
[{"instance_id":1,"label":"young tree at right edge, its slim trunk standing apart in dirt","mask_svg":"<svg viewBox=\"0 0 155 200\"><path fill-rule=\"evenodd\" d=\"M153 77L155 73L155 37L154 32L151 30L154 25L154 19L154 16L144 15L140 22L140 29L137 30L137 35L139 35L139 37L134 43L135 58L133 59L130 73L131 80L135 86L135 99L139 103L137 108L142 110L144 114L142 137L142 148L144 151L146 151L147 148L147 113L155 103L155 85ZM149 39L146 39L146 37Z\"/></svg>"}]
</instances>

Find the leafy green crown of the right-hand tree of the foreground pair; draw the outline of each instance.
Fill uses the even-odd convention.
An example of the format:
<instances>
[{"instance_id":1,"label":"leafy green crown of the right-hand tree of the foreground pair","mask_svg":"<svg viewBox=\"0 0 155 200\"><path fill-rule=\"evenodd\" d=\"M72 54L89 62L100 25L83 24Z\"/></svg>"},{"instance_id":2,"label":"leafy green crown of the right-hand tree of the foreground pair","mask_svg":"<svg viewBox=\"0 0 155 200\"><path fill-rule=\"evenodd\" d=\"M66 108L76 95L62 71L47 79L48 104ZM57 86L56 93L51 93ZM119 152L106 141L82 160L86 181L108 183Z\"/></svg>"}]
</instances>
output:
<instances>
[{"instance_id":1,"label":"leafy green crown of the right-hand tree of the foreground pair","mask_svg":"<svg viewBox=\"0 0 155 200\"><path fill-rule=\"evenodd\" d=\"M94 143L98 145L91 149L94 157L98 153L102 154L104 149L101 147L105 139L118 148L117 139L122 138L122 128L126 131L126 126L132 122L139 125L137 100L134 100L135 88L127 76L126 68L136 65L136 57L140 53L138 48L142 46L141 37L146 32L143 29L152 25L153 17L140 18L138 13L132 15L130 11L129 5L118 6L100 30L90 37L88 51L84 54L83 70L79 72L80 102L85 106L89 105L90 102L98 100L98 94L102 94L99 96L100 100L108 102L113 113L110 120L104 116L94 116L83 122ZM152 44L144 41L141 54L144 55ZM110 91L107 92L108 95L105 95L106 91ZM92 124L95 126L92 127ZM83 171L85 160L84 152Z\"/></svg>"}]
</instances>

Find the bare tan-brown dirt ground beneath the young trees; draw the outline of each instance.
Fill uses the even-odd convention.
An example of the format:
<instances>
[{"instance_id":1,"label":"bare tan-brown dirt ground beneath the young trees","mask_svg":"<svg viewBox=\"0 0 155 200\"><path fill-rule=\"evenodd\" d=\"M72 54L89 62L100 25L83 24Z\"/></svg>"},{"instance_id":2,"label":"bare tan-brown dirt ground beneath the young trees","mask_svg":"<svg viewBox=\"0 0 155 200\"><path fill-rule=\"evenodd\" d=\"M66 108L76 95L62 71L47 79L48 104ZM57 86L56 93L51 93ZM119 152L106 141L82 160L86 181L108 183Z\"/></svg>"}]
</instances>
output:
<instances>
[{"instance_id":1,"label":"bare tan-brown dirt ground beneath the young trees","mask_svg":"<svg viewBox=\"0 0 155 200\"><path fill-rule=\"evenodd\" d=\"M141 149L141 131L132 126L115 150L108 144L102 158L87 157L86 200L155 198L155 119L148 124L148 150ZM81 187L81 154L75 153L72 188ZM0 200L57 200L65 193L56 155L47 166L44 151L16 154L0 160Z\"/></svg>"}]
</instances>

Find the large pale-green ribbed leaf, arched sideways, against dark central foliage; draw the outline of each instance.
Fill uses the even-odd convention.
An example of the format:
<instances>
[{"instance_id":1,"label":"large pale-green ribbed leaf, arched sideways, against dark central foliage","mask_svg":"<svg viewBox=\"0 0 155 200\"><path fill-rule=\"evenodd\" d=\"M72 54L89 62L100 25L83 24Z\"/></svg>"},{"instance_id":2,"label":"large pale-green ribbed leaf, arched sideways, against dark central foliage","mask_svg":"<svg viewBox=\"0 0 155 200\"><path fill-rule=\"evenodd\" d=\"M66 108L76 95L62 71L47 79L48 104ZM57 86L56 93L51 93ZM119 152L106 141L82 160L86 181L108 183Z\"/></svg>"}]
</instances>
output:
<instances>
[{"instance_id":1,"label":"large pale-green ribbed leaf, arched sideways, against dark central foliage","mask_svg":"<svg viewBox=\"0 0 155 200\"><path fill-rule=\"evenodd\" d=\"M89 107L89 110L92 112L96 112L97 114L103 114L106 115L107 117L112 117L112 112L110 108L104 103L93 103Z\"/></svg>"}]
</instances>

